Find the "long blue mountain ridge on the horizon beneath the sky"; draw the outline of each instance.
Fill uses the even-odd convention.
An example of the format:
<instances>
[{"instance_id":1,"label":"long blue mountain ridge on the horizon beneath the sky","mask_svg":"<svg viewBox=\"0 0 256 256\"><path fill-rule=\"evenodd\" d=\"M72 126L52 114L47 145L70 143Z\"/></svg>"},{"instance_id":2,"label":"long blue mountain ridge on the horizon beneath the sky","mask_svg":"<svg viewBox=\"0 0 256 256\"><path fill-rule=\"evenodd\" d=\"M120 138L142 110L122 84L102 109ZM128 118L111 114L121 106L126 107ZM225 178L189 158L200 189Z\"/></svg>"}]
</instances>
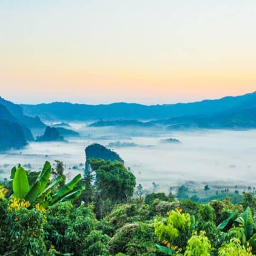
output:
<instances>
[{"instance_id":1,"label":"long blue mountain ridge on the horizon beneath the sky","mask_svg":"<svg viewBox=\"0 0 256 256\"><path fill-rule=\"evenodd\" d=\"M98 119L167 119L183 115L213 115L229 110L242 111L256 107L256 92L218 100L146 106L136 103L100 105L54 102L49 104L21 104L26 115L38 115L43 120L98 120Z\"/></svg>"}]
</instances>

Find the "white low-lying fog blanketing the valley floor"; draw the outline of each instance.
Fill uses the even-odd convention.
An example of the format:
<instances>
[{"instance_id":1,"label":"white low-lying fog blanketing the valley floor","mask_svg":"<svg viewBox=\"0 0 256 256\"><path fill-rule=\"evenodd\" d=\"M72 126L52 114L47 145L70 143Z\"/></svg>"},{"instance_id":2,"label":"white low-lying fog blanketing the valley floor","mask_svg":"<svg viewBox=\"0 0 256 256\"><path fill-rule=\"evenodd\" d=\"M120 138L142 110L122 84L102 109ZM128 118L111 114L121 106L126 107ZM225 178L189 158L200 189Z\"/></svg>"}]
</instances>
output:
<instances>
[{"instance_id":1,"label":"white low-lying fog blanketing the valley floor","mask_svg":"<svg viewBox=\"0 0 256 256\"><path fill-rule=\"evenodd\" d=\"M132 147L111 147L124 159L135 174L137 183L150 187L152 182L167 188L185 181L256 184L256 130L197 130L165 133L143 128L86 127L71 124L80 138L65 142L31 142L22 150L0 154L0 177L9 177L14 165L30 164L39 170L44 161L63 161L69 178L83 173L84 149L97 142L107 146L120 141L135 143ZM161 139L176 138L181 143L162 143Z\"/></svg>"}]
</instances>

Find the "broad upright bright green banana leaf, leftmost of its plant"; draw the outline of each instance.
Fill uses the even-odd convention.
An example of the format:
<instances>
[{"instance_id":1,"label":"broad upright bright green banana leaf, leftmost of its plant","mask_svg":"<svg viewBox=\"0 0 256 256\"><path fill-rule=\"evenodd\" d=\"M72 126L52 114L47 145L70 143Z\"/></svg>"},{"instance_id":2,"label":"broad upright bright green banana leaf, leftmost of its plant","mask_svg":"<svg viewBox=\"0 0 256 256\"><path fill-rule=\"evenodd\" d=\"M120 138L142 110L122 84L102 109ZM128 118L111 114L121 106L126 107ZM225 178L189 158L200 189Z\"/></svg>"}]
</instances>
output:
<instances>
[{"instance_id":1,"label":"broad upright bright green banana leaf, leftmost of its plant","mask_svg":"<svg viewBox=\"0 0 256 256\"><path fill-rule=\"evenodd\" d=\"M27 173L24 168L19 165L13 179L13 196L24 199L29 190L30 185L28 184Z\"/></svg>"}]
</instances>

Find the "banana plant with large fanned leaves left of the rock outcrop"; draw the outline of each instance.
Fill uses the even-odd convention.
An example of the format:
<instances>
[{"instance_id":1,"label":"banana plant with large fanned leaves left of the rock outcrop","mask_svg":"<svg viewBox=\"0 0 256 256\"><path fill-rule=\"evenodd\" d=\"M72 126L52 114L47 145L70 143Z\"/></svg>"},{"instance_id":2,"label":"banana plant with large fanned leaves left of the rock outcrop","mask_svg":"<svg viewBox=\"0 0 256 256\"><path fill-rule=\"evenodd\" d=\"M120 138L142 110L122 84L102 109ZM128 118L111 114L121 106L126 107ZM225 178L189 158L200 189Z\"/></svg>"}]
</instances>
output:
<instances>
[{"instance_id":1,"label":"banana plant with large fanned leaves left of the rock outcrop","mask_svg":"<svg viewBox=\"0 0 256 256\"><path fill-rule=\"evenodd\" d=\"M43 201L42 206L44 208L49 205L53 205L60 201L74 201L76 200L82 191L85 189L84 185L75 187L75 185L82 178L81 174L75 176L70 182L68 182L63 188L61 188L54 195L50 195L48 199L44 199L46 192L50 191L56 184L62 181L61 177L57 177L49 185L49 179L51 176L51 165L48 161L45 162L42 171L39 173L36 182L30 187L28 184L27 173L21 165L11 169L11 178L13 178L13 195L18 199L24 199L33 205L37 201ZM48 186L47 186L48 185Z\"/></svg>"}]
</instances>

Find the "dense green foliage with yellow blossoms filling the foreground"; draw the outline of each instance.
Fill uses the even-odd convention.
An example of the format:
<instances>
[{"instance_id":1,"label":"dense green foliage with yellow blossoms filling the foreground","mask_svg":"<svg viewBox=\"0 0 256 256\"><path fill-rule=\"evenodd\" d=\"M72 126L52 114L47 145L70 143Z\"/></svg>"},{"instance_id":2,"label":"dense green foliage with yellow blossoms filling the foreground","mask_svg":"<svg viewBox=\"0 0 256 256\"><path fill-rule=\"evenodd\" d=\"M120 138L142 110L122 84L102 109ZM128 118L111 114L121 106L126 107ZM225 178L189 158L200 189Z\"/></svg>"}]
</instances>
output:
<instances>
[{"instance_id":1,"label":"dense green foliage with yellow blossoms filling the foreground","mask_svg":"<svg viewBox=\"0 0 256 256\"><path fill-rule=\"evenodd\" d=\"M42 172L29 175L13 168L13 192L0 187L1 255L255 255L253 191L237 204L228 198L178 201L147 194L142 185L135 190L135 177L122 162L90 164L92 172L75 184L65 182L61 162L51 171L46 162ZM48 188L45 196L26 197L38 182ZM84 185L73 201L73 189ZM58 200L45 205L56 194Z\"/></svg>"}]
</instances>

